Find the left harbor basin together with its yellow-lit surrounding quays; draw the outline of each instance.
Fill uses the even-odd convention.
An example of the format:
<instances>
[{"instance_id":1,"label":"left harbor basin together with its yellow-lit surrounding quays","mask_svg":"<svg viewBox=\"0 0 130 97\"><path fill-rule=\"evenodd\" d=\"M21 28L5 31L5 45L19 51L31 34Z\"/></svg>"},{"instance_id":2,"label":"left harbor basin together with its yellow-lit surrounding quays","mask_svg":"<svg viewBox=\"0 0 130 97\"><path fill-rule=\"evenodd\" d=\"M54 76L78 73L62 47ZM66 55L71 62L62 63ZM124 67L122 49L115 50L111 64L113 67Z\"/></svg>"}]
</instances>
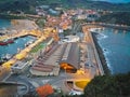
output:
<instances>
[{"instance_id":1,"label":"left harbor basin together with its yellow-lit surrounding quays","mask_svg":"<svg viewBox=\"0 0 130 97\"><path fill-rule=\"evenodd\" d=\"M23 22L23 20L22 20ZM25 20L26 23L26 20ZM29 23L28 23L29 24ZM12 29L13 30L13 29ZM0 45L0 57L1 57L1 79L5 80L6 77L10 77L10 71L12 65L29 56L29 52L39 43L48 39L50 32L53 29L47 29L48 32L41 32L36 29L24 29L20 32L14 32L12 34L3 34L0 37L0 41L5 39L14 39L13 43L6 43L5 45Z\"/></svg>"}]
</instances>

